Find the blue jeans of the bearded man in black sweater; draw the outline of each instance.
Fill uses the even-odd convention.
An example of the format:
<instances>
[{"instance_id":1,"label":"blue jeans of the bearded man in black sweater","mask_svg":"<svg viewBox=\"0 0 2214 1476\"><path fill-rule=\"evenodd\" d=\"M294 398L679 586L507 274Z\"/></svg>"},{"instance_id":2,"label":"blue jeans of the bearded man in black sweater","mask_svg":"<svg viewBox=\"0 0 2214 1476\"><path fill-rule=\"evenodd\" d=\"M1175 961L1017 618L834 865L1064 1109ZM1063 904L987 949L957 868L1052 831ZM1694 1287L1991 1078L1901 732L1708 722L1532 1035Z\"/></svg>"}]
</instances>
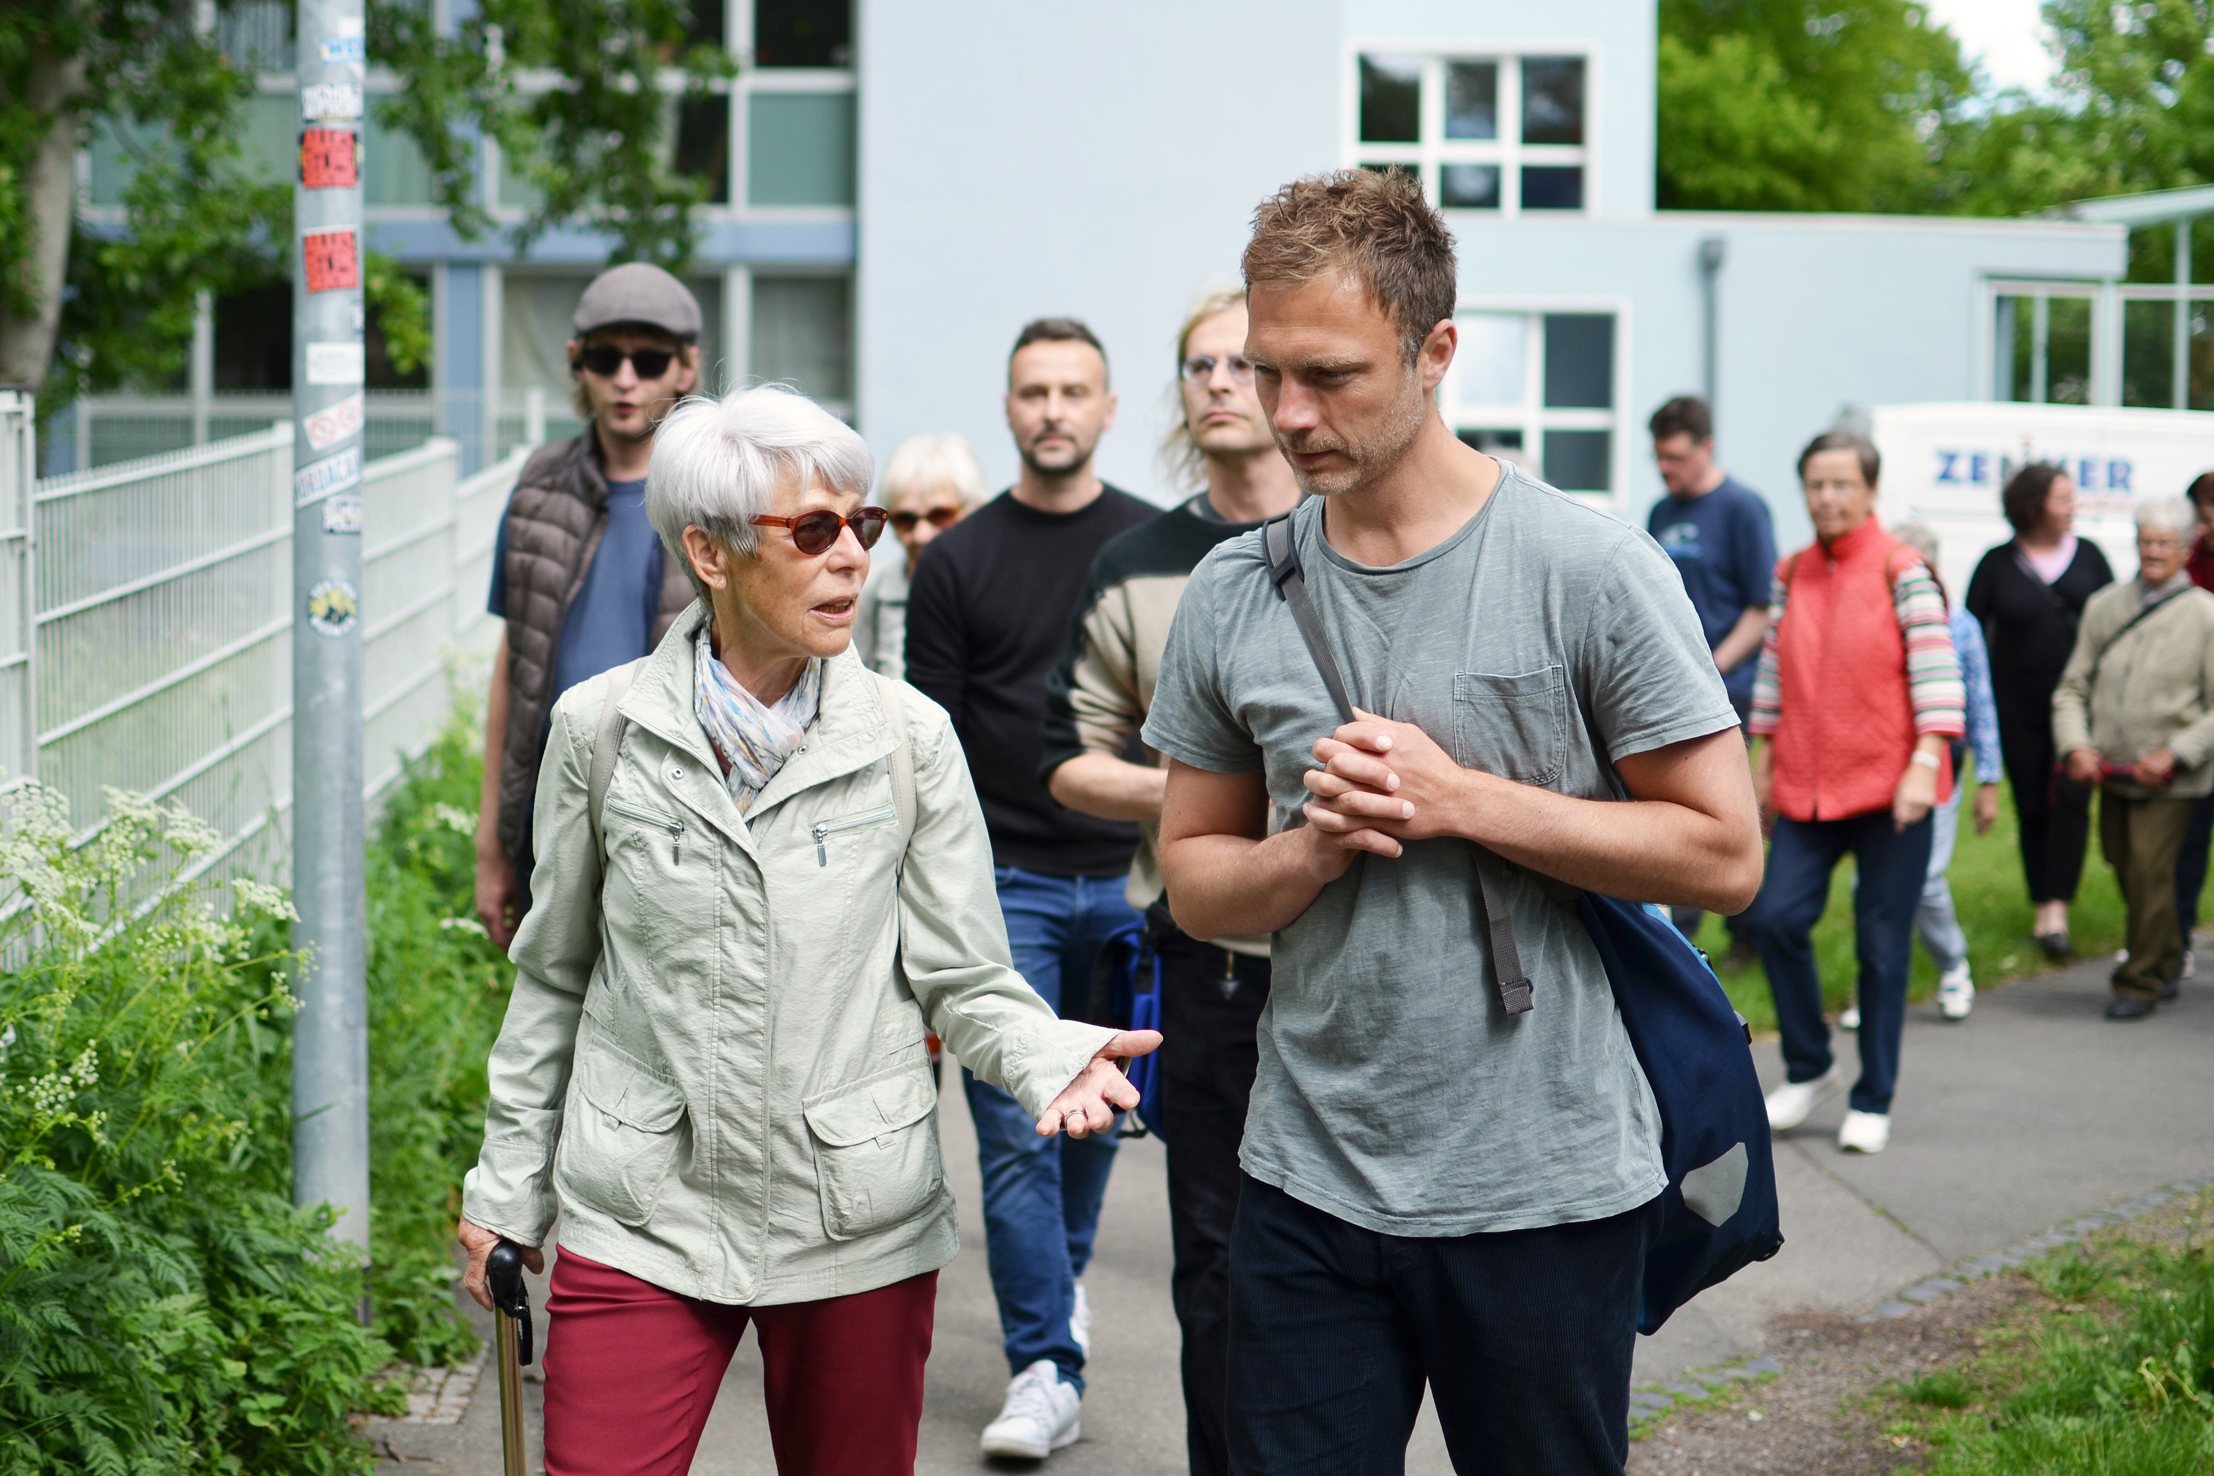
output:
<instances>
[{"instance_id":1,"label":"blue jeans of the bearded man in black sweater","mask_svg":"<svg viewBox=\"0 0 2214 1476\"><path fill-rule=\"evenodd\" d=\"M994 870L1014 967L1063 1016L1080 1016L1100 943L1138 921L1120 876L1045 876ZM1038 1120L999 1087L961 1071L976 1120L983 1168L983 1246L1007 1339L1007 1372L1052 1359L1061 1381L1085 1387L1085 1359L1069 1332L1076 1277L1092 1264L1114 1133L1038 1137Z\"/></svg>"}]
</instances>

